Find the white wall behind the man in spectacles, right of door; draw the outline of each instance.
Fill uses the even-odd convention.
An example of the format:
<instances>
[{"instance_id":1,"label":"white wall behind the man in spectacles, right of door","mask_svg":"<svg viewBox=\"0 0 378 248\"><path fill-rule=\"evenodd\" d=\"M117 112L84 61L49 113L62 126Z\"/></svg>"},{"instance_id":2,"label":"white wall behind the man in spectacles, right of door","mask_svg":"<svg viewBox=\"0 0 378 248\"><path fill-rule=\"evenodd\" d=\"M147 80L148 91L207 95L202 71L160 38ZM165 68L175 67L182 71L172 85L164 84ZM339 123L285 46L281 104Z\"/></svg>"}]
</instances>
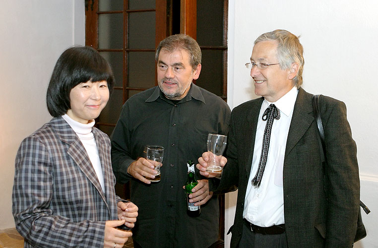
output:
<instances>
[{"instance_id":1,"label":"white wall behind the man in spectacles, right of door","mask_svg":"<svg viewBox=\"0 0 378 248\"><path fill-rule=\"evenodd\" d=\"M262 33L286 29L301 35L305 67L303 88L342 100L357 143L361 199L368 237L357 248L378 247L376 0L229 0L228 103L231 108L256 98L250 70L253 41ZM236 196L228 196L226 232L233 223ZM232 212L232 213L231 213ZM229 245L229 243L228 243Z\"/></svg>"}]
</instances>

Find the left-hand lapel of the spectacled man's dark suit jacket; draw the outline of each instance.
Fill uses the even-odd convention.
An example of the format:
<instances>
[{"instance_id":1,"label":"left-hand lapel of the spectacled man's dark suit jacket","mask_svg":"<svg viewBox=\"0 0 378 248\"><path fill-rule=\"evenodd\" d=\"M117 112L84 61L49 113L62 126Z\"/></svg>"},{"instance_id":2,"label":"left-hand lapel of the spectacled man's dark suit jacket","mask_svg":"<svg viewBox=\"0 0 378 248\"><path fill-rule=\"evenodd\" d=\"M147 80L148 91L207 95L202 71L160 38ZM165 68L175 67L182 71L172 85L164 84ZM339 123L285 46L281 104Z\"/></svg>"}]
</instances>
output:
<instances>
[{"instance_id":1,"label":"left-hand lapel of the spectacled man's dark suit jacket","mask_svg":"<svg viewBox=\"0 0 378 248\"><path fill-rule=\"evenodd\" d=\"M257 122L258 122L258 115L260 113L261 104L264 101L264 98L258 98L253 100L251 110L247 116L248 125L245 126L246 136L244 140L246 140L246 151L249 152L248 160L246 163L246 173L250 175L251 167L252 167L252 158L253 158L253 151L254 151L254 141L256 138L256 129L257 129ZM242 131L242 133L245 133ZM247 138L250 137L250 138Z\"/></svg>"}]
</instances>

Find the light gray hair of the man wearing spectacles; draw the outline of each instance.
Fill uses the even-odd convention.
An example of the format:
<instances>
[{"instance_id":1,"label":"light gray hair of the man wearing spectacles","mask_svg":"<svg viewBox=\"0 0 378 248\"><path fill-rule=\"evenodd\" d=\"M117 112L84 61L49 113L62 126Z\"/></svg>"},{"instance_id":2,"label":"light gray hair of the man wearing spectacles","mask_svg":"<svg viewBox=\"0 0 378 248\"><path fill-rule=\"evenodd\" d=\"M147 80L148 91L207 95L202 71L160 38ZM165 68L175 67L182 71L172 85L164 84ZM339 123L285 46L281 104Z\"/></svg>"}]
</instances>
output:
<instances>
[{"instance_id":1,"label":"light gray hair of the man wearing spectacles","mask_svg":"<svg viewBox=\"0 0 378 248\"><path fill-rule=\"evenodd\" d=\"M299 42L299 37L286 30L277 29L272 32L260 35L255 41L256 45L261 41L275 41L277 42L277 59L280 63L281 69L289 69L293 62L299 64L297 75L293 78L293 82L297 88L301 87L303 83L303 66L305 59L303 58L303 47Z\"/></svg>"}]
</instances>

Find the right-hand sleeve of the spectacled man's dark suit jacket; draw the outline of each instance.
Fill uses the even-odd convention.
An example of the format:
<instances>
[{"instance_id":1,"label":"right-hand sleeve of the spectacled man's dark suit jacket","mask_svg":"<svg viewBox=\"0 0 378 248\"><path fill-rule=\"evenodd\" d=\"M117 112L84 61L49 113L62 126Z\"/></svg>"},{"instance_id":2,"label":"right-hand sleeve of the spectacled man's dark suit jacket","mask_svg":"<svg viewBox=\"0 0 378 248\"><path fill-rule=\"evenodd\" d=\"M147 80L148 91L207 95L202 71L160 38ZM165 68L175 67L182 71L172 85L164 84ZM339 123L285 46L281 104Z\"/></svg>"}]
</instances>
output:
<instances>
[{"instance_id":1,"label":"right-hand sleeve of the spectacled man's dark suit jacket","mask_svg":"<svg viewBox=\"0 0 378 248\"><path fill-rule=\"evenodd\" d=\"M343 102L324 97L321 116L326 146L328 210L325 247L352 247L357 229L360 179L357 147Z\"/></svg>"}]
</instances>

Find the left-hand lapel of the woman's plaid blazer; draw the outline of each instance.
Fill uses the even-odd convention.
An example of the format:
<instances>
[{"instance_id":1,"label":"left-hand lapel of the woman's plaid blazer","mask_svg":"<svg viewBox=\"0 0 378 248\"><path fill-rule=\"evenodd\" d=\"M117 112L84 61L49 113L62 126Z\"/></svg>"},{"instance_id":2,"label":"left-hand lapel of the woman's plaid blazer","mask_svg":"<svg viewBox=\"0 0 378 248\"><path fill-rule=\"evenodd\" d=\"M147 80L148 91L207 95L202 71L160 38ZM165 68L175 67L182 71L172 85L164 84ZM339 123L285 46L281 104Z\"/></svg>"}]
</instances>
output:
<instances>
[{"instance_id":1,"label":"left-hand lapel of the woman's plaid blazer","mask_svg":"<svg viewBox=\"0 0 378 248\"><path fill-rule=\"evenodd\" d=\"M83 144L81 143L79 137L73 131L71 126L64 121L62 117L56 118L52 122L52 126L56 130L57 135L62 140L62 142L67 143L69 145L67 154L78 165L78 167L88 178L88 180L96 187L97 191L101 195L101 198L108 205L105 194L102 191L100 182L98 181L96 172L93 169L93 166L88 157L88 153L85 150Z\"/></svg>"}]
</instances>

